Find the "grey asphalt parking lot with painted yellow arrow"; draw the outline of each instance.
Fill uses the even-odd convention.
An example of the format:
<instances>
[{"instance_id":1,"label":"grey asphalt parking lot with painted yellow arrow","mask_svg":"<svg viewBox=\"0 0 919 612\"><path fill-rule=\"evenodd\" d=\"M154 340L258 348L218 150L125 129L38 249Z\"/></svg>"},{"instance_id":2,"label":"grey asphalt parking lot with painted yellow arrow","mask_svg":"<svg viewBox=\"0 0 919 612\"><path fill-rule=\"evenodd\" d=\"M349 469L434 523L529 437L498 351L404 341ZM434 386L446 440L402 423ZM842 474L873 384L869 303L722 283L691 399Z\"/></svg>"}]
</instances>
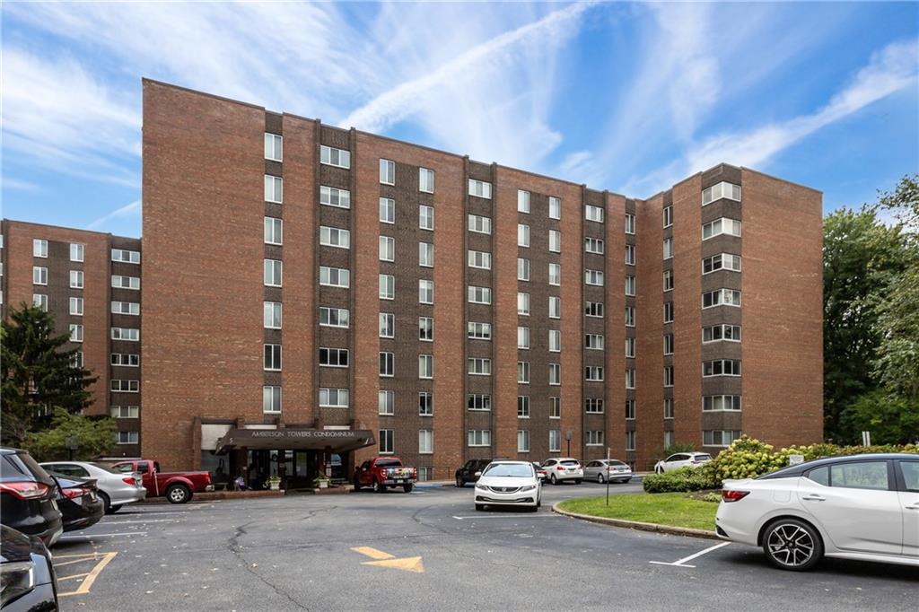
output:
<instances>
[{"instance_id":1,"label":"grey asphalt parking lot with painted yellow arrow","mask_svg":"<svg viewBox=\"0 0 919 612\"><path fill-rule=\"evenodd\" d=\"M614 485L614 494L641 485ZM914 610L914 569L824 561L550 512L475 512L471 486L126 506L53 550L62 610Z\"/></svg>"}]
</instances>

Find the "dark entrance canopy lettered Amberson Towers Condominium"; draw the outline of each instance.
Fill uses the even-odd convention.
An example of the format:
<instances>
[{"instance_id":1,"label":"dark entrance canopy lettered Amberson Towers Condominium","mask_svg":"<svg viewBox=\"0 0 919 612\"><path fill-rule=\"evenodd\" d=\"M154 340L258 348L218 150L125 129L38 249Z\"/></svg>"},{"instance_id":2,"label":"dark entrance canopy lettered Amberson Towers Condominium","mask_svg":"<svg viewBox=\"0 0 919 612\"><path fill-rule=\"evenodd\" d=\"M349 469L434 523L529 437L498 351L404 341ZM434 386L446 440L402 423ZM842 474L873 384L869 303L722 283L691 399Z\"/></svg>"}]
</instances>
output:
<instances>
[{"instance_id":1,"label":"dark entrance canopy lettered Amberson Towers Condominium","mask_svg":"<svg viewBox=\"0 0 919 612\"><path fill-rule=\"evenodd\" d=\"M217 440L215 452L224 454L236 448L345 452L376 443L369 429L231 429Z\"/></svg>"}]
</instances>

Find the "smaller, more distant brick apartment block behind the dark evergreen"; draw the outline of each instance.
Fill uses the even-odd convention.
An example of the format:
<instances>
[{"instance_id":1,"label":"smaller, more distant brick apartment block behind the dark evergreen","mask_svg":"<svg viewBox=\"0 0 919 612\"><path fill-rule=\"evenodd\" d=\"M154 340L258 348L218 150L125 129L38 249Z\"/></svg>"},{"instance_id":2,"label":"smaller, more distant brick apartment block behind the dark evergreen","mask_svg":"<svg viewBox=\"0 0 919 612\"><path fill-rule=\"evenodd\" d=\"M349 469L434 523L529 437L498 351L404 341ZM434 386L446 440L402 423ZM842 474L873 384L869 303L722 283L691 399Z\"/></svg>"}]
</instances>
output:
<instances>
[{"instance_id":1,"label":"smaller, more distant brick apartment block behind the dark evergreen","mask_svg":"<svg viewBox=\"0 0 919 612\"><path fill-rule=\"evenodd\" d=\"M34 304L51 312L68 348L92 370L86 414L118 420L115 455L140 453L141 240L0 221L2 314Z\"/></svg>"}]
</instances>

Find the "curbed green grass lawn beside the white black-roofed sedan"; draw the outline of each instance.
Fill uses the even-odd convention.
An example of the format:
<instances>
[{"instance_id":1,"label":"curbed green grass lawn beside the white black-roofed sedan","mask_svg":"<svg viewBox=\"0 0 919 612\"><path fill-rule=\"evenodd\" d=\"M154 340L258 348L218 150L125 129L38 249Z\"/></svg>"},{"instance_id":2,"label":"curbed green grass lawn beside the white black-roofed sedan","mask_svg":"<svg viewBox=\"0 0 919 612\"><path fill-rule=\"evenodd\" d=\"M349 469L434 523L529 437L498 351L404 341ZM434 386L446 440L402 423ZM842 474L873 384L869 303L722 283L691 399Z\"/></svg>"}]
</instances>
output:
<instances>
[{"instance_id":1,"label":"curbed green grass lawn beside the white black-roofed sedan","mask_svg":"<svg viewBox=\"0 0 919 612\"><path fill-rule=\"evenodd\" d=\"M604 497L569 499L562 510L581 515L620 518L656 525L715 530L718 504L692 499L686 493L623 493Z\"/></svg>"}]
</instances>

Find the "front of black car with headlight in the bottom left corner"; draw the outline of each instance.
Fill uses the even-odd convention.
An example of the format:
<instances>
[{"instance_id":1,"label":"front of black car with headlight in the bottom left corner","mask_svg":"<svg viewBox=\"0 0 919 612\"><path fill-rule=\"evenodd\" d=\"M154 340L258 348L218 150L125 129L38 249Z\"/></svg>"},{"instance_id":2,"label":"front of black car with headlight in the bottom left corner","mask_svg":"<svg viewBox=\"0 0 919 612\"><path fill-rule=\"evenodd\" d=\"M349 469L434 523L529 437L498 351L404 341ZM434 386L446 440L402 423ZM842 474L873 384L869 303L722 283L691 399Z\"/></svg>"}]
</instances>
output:
<instances>
[{"instance_id":1,"label":"front of black car with headlight in the bottom left corner","mask_svg":"<svg viewBox=\"0 0 919 612\"><path fill-rule=\"evenodd\" d=\"M57 610L51 553L39 538L0 526L0 608L4 612Z\"/></svg>"}]
</instances>

